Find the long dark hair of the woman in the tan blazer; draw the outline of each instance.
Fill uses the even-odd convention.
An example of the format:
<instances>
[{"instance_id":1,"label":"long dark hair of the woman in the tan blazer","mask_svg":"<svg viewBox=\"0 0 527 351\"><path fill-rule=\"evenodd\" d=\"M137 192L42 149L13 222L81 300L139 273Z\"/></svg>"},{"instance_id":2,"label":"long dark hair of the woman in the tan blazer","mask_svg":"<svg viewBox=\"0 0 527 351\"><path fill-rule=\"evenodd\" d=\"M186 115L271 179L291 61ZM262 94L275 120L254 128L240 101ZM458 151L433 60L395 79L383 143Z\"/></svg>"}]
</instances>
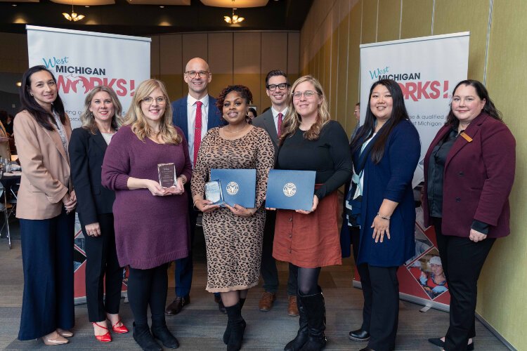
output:
<instances>
[{"instance_id":1,"label":"long dark hair of the woman in the tan blazer","mask_svg":"<svg viewBox=\"0 0 527 351\"><path fill-rule=\"evenodd\" d=\"M21 110L26 110L27 112L30 112L30 114L33 116L34 119L37 120L37 123L42 127L46 128L48 131L53 131L54 126L56 126L55 118L53 118L53 114L49 113L39 105L39 103L34 100L34 97L30 94L31 89L31 76L34 73L46 71L49 74L51 74L51 78L57 84L57 80L55 79L55 76L53 76L53 73L49 69L47 69L44 66L33 66L30 69L27 69L27 71L22 76L22 84L20 85L20 105ZM53 101L53 110L57 112L58 117L60 118L60 122L62 124L66 123L66 114L64 112L64 104L63 100L60 100L60 95L58 95L58 86L57 86L57 98L55 101Z\"/></svg>"}]
</instances>

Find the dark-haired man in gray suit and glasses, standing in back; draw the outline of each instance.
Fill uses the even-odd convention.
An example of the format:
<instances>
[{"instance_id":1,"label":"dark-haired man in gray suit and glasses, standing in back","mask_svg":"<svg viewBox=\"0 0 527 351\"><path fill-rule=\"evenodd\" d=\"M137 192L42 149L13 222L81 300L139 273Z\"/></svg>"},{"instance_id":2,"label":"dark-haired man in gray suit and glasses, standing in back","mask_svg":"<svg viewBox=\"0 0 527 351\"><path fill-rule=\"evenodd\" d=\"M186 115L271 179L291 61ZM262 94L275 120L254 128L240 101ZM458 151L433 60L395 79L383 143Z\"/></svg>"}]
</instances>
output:
<instances>
[{"instance_id":1,"label":"dark-haired man in gray suit and glasses, standing in back","mask_svg":"<svg viewBox=\"0 0 527 351\"><path fill-rule=\"evenodd\" d=\"M275 145L275 161L278 157L278 138L280 136L280 127L287 114L287 104L291 95L291 84L287 79L285 72L280 69L273 69L266 77L266 93L271 99L271 108L252 120L256 127L263 128L267 131L273 145ZM278 270L273 258L273 239L275 237L275 211L267 211L266 227L263 230L263 249L261 257L261 276L263 277L263 289L265 292L259 302L259 310L268 312L273 307L278 291ZM297 279L289 271L289 280L287 282L287 294L289 303L287 305L287 314L297 316Z\"/></svg>"}]
</instances>

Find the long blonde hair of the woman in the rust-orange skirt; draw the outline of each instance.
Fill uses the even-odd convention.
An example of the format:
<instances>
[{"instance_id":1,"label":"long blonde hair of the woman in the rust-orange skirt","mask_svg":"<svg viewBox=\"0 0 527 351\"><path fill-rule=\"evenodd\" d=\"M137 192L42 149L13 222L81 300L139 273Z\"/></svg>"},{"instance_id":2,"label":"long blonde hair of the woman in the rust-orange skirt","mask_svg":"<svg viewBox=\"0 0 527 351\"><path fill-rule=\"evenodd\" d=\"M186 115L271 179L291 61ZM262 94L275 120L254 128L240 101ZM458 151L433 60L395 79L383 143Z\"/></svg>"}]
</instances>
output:
<instances>
[{"instance_id":1,"label":"long blonde hair of the woman in the rust-orange skirt","mask_svg":"<svg viewBox=\"0 0 527 351\"><path fill-rule=\"evenodd\" d=\"M320 135L320 130L322 130L323 126L325 126L325 124L327 124L327 122L331 119L330 111L327 108L327 100L324 90L320 85L320 82L313 76L307 75L297 79L297 81L295 81L293 83L293 86L291 87L291 94L294 94L294 91L297 86L301 83L304 83L304 81L309 81L311 82L311 84L313 84L321 100L320 105L318 105L318 114L315 123L313 123L313 125L311 126L311 128L309 128L308 131L304 132L304 138L306 138L307 140L317 140L318 136ZM293 135L300 127L300 124L301 117L298 114L297 110L294 109L293 99L291 97L289 99L287 114L285 115L285 119L282 124L282 135L280 136L280 144L284 142L285 138Z\"/></svg>"}]
</instances>

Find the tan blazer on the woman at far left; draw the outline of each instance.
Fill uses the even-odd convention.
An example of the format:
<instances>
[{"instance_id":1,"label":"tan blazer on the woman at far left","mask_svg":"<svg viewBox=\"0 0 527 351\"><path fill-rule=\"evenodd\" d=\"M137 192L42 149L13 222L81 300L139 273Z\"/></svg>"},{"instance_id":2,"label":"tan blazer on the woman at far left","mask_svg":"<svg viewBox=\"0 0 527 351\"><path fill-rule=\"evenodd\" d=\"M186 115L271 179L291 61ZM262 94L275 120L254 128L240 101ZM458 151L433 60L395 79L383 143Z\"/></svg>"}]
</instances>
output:
<instances>
[{"instance_id":1,"label":"tan blazer on the woman at far left","mask_svg":"<svg viewBox=\"0 0 527 351\"><path fill-rule=\"evenodd\" d=\"M64 129L69 143L72 127L67 116ZM70 160L58 131L42 128L24 110L15 117L13 134L22 166L16 216L42 220L60 215L61 200L72 190L72 185Z\"/></svg>"}]
</instances>

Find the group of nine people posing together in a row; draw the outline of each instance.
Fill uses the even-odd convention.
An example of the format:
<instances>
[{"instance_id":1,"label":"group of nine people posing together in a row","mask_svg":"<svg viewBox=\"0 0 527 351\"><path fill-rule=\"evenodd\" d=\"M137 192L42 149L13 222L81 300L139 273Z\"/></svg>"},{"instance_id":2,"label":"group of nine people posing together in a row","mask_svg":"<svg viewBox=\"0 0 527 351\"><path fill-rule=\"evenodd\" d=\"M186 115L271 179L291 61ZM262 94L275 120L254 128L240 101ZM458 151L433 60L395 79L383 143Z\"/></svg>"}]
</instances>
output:
<instances>
[{"instance_id":1,"label":"group of nine people posing together in a row","mask_svg":"<svg viewBox=\"0 0 527 351\"><path fill-rule=\"evenodd\" d=\"M289 263L287 313L299 315L299 331L285 350L322 350L326 310L318 278L322 267L341 264L346 249L337 227L337 190L346 185L343 226L364 296L363 323L349 338L368 341L363 350L393 350L397 270L415 253L411 183L420 154L396 81L372 85L365 121L350 143L311 76L291 85L285 72L269 72L272 106L256 118L249 117L252 93L246 86L227 86L217 100L208 94L212 73L201 58L188 62L184 79L188 96L172 103L161 81L143 81L124 119L115 92L97 86L86 95L82 127L72 131L53 74L43 66L25 72L22 111L14 120L25 277L18 338L60 345L73 336L77 211L96 339L109 342L110 331L129 332L119 317L122 267L128 267L134 339L143 350L162 350L157 340L178 347L165 316L190 303L193 236L202 213L207 291L228 315L227 350L242 347L242 307L260 274L265 292L259 309L273 306L275 260ZM474 347L479 272L495 238L509 234L514 147L485 87L460 82L448 120L424 160L425 220L436 228L452 296L445 338L430 339L444 350ZM166 188L157 165L167 163L174 164L177 177ZM214 168L256 169L254 208L220 207L206 199L204 185ZM316 172L310 211L265 208L271 168ZM165 307L172 261L176 298Z\"/></svg>"}]
</instances>

